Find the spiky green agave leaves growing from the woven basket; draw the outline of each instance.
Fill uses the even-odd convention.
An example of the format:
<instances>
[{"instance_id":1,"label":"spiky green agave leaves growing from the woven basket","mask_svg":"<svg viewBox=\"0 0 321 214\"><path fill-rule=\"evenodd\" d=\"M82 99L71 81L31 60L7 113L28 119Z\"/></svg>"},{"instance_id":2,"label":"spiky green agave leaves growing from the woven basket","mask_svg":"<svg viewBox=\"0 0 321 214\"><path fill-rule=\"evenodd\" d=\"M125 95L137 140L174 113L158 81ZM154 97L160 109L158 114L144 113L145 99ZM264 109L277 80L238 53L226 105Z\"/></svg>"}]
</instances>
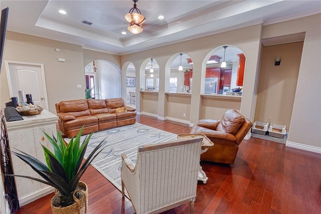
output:
<instances>
[{"instance_id":1,"label":"spiky green agave leaves growing from the woven basket","mask_svg":"<svg viewBox=\"0 0 321 214\"><path fill-rule=\"evenodd\" d=\"M44 178L44 180L25 175L13 174L9 176L30 178L53 186L62 194L61 205L71 205L74 203L73 192L76 190L80 177L84 174L92 160L104 149L102 148L98 151L98 149L100 149L105 143L105 141L102 140L89 154L88 158L83 162L83 164L81 164L88 142L93 134L91 133L89 136L87 135L81 144L80 137L82 130L83 127L78 132L77 136L70 140L68 145L66 145L59 131L57 131L57 138L55 138L55 136L51 138L43 131L53 146L55 153L53 154L48 148L42 145L47 165L42 163L37 158L34 158L33 156L18 149L17 150L22 154L11 151L13 154L30 165L41 177Z\"/></svg>"}]
</instances>

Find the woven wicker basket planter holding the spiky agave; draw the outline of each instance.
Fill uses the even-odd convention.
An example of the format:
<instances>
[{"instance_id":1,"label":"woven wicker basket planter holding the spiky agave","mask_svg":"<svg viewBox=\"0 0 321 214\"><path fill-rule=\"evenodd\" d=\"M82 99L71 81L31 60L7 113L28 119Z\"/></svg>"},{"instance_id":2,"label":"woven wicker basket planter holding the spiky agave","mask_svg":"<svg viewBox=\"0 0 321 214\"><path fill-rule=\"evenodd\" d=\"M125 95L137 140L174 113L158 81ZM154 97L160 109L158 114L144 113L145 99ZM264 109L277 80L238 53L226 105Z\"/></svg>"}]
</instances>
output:
<instances>
[{"instance_id":1,"label":"woven wicker basket planter holding the spiky agave","mask_svg":"<svg viewBox=\"0 0 321 214\"><path fill-rule=\"evenodd\" d=\"M76 189L73 197L75 200L75 203L69 205L69 206L65 206L65 207L57 207L54 206L54 202L57 200L57 198L59 198L59 196L61 195L60 192L56 192L55 196L51 199L51 209L52 209L52 213L53 214L85 214L87 213L87 207L88 207L88 187L87 184L79 181L77 187L81 187L84 188L85 191L80 190L80 189ZM81 197L78 199L75 194L77 192L81 192Z\"/></svg>"}]
</instances>

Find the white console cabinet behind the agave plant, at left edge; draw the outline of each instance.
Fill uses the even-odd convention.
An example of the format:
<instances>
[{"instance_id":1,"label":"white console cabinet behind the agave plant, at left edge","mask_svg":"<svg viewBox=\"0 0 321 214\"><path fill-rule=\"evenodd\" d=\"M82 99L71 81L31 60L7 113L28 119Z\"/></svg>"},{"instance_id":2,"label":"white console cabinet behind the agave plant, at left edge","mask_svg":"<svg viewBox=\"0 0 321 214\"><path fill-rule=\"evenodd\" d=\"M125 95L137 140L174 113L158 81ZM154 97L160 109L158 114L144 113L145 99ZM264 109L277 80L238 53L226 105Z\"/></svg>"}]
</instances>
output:
<instances>
[{"instance_id":1,"label":"white console cabinet behind the agave plant, at left edge","mask_svg":"<svg viewBox=\"0 0 321 214\"><path fill-rule=\"evenodd\" d=\"M23 118L24 120L6 121L10 149L14 151L17 151L14 148L19 149L46 164L41 144L51 151L53 151L53 149L42 130L50 136L52 136L52 134L57 136L56 123L58 117L44 109L41 114L23 116ZM15 174L43 179L27 163L14 154L11 156ZM28 178L15 177L15 180L20 206L54 191L53 187Z\"/></svg>"}]
</instances>

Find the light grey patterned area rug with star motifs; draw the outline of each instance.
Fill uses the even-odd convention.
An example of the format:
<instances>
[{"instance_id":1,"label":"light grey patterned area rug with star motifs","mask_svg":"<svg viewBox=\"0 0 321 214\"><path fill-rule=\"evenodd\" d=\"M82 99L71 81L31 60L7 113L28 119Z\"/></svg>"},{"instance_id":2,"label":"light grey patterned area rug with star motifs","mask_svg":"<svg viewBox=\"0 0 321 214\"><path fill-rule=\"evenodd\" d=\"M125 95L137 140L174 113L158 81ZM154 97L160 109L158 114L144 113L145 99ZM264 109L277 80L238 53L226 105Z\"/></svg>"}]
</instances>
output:
<instances>
[{"instance_id":1,"label":"light grey patterned area rug with star motifs","mask_svg":"<svg viewBox=\"0 0 321 214\"><path fill-rule=\"evenodd\" d=\"M107 147L92 161L92 165L121 191L121 154L125 153L134 163L140 145L176 140L177 135L140 123L99 131L91 137L85 158L105 137ZM81 141L85 135L81 137ZM69 142L69 138L65 138Z\"/></svg>"}]
</instances>

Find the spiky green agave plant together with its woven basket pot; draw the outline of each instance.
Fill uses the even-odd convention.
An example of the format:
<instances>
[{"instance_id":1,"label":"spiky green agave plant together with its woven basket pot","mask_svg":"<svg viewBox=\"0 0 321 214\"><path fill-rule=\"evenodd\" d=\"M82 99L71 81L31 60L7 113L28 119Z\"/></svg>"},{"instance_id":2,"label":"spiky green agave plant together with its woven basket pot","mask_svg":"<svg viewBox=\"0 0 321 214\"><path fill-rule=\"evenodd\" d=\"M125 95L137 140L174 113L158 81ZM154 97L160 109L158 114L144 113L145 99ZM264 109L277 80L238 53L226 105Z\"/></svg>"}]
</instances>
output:
<instances>
[{"instance_id":1,"label":"spiky green agave plant together with its woven basket pot","mask_svg":"<svg viewBox=\"0 0 321 214\"><path fill-rule=\"evenodd\" d=\"M81 143L80 137L82 131L83 127L75 138L71 138L68 144L64 141L59 131L57 131L57 138L55 138L55 136L50 137L43 131L54 149L54 153L52 153L48 148L42 146L46 164L18 149L21 153L11 151L14 155L30 165L43 179L16 174L9 176L30 178L56 188L55 196L51 200L51 207L54 214L86 213L88 204L86 194L88 194L88 189L87 185L79 180L92 160L104 149L100 148L104 145L105 141L101 141L82 163L88 142L93 134L91 133L89 136L86 136ZM44 139L43 137L43 140Z\"/></svg>"}]
</instances>

